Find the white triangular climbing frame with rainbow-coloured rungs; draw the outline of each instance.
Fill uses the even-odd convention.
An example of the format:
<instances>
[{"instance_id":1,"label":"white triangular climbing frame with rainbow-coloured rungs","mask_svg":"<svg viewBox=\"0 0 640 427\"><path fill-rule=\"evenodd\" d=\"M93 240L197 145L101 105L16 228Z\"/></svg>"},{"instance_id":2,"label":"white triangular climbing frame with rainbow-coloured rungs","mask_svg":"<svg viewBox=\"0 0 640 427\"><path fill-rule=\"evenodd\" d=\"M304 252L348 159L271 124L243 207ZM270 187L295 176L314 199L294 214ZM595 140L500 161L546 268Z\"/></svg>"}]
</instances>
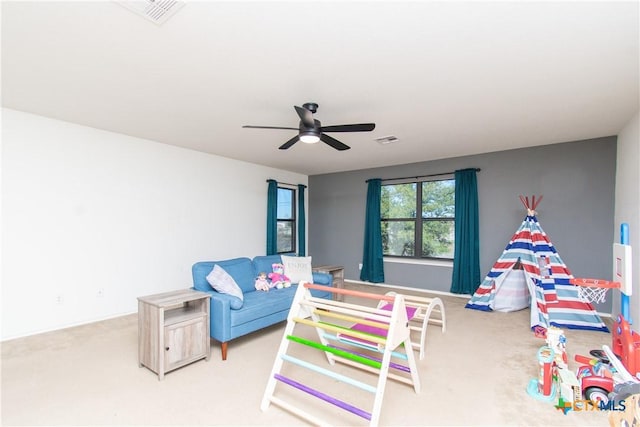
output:
<instances>
[{"instance_id":1,"label":"white triangular climbing frame with rainbow-coloured rungs","mask_svg":"<svg viewBox=\"0 0 640 427\"><path fill-rule=\"evenodd\" d=\"M384 310L315 298L311 295L311 289L386 301L392 303L393 307L391 310ZM318 341L310 340L299 334L296 335L302 328L308 327L316 330ZM318 366L300 357L292 356L289 352L292 344L303 346L303 354L306 354L307 350L324 352L329 365L327 367ZM387 379L412 385L416 393L420 392L420 379L412 348L403 295L379 295L301 283L289 311L287 326L260 408L266 411L273 403L313 424L330 424L303 409L302 407L305 405L301 402L304 402L304 399L294 400L292 396L289 396L285 400L276 395L278 385L283 384L338 407L349 414L364 418L369 421L369 425L376 426L380 421ZM399 360L399 363L392 362L392 358ZM335 368L335 362L375 374L373 378L375 382L369 383L338 372L337 369L332 369ZM284 375L285 364L311 371L314 374L311 378L320 380L321 376L329 377L332 380L353 386L359 393L371 394L373 396L372 409L361 409L347 402L350 396L353 397L352 393L347 393L345 396L332 396L327 390L319 390L316 384L303 384L300 379ZM325 381L324 387L330 387L327 386L330 383ZM290 393L288 394L290 395ZM344 424L352 425L353 422L345 419Z\"/></svg>"}]
</instances>

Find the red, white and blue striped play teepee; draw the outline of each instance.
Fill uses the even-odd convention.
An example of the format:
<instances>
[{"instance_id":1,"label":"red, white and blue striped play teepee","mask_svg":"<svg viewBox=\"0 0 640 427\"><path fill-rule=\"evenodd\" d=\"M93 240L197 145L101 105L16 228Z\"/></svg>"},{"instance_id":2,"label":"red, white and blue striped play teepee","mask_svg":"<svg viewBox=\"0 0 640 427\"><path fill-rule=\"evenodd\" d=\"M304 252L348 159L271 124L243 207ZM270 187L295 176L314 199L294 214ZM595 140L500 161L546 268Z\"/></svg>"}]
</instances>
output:
<instances>
[{"instance_id":1,"label":"red, white and blue striped play teepee","mask_svg":"<svg viewBox=\"0 0 640 427\"><path fill-rule=\"evenodd\" d=\"M556 252L536 217L542 200L520 196L527 216L500 258L482 281L466 308L493 311L505 278L516 264L522 266L524 282L531 295L531 328L557 326L609 332L593 305L584 300L578 287L569 281L573 275Z\"/></svg>"}]
</instances>

